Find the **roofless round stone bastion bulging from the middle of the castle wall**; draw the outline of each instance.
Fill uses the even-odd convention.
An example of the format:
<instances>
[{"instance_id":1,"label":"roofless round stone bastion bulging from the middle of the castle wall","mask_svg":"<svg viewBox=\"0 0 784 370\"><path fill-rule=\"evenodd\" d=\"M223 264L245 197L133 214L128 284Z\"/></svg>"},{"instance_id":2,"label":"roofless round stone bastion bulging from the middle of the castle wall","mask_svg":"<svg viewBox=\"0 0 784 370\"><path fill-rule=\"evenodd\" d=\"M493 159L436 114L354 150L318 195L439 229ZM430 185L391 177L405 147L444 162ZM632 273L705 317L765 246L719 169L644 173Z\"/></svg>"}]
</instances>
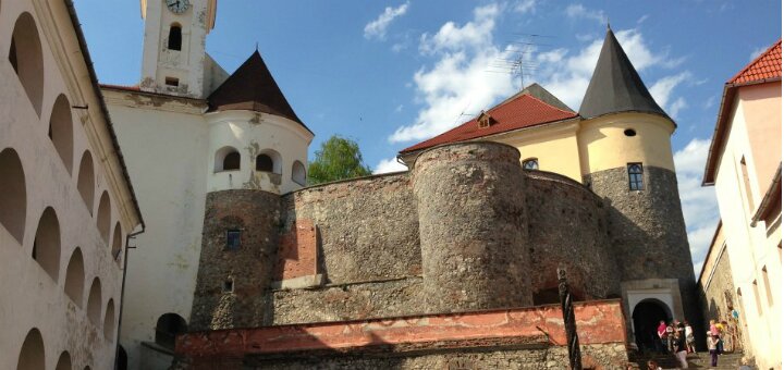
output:
<instances>
[{"instance_id":1,"label":"roofless round stone bastion bulging from the middle of the castle wall","mask_svg":"<svg viewBox=\"0 0 784 370\"><path fill-rule=\"evenodd\" d=\"M525 176L516 148L466 143L421 153L412 172L426 309L529 306Z\"/></svg>"}]
</instances>

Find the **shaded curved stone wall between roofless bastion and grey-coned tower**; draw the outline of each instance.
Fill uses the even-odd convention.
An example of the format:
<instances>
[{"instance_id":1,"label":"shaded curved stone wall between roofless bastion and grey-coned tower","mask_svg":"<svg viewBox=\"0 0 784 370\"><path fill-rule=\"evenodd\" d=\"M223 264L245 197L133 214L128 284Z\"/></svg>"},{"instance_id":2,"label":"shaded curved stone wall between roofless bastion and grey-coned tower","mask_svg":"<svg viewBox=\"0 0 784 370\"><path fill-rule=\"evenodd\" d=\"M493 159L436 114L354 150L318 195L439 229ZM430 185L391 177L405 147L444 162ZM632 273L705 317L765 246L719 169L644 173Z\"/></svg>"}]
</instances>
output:
<instances>
[{"instance_id":1,"label":"shaded curved stone wall between roofless bastion and grey-coned tower","mask_svg":"<svg viewBox=\"0 0 784 370\"><path fill-rule=\"evenodd\" d=\"M528 246L535 304L558 303L559 266L566 268L577 299L618 296L615 258L610 252L608 210L601 198L572 178L525 171ZM534 217L535 215L535 217ZM548 294L549 293L549 294Z\"/></svg>"}]
</instances>

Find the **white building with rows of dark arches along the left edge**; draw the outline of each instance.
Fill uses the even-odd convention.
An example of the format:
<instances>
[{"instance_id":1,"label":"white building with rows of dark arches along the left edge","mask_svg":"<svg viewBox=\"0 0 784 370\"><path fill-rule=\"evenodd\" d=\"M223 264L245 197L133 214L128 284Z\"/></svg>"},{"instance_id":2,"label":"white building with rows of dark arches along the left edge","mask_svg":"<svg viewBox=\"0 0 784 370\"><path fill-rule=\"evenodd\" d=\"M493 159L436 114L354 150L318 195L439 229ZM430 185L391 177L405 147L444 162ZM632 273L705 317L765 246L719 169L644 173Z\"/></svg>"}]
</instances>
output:
<instances>
[{"instance_id":1,"label":"white building with rows of dark arches along the left edge","mask_svg":"<svg viewBox=\"0 0 784 370\"><path fill-rule=\"evenodd\" d=\"M110 369L144 229L70 0L0 2L0 369Z\"/></svg>"}]
</instances>

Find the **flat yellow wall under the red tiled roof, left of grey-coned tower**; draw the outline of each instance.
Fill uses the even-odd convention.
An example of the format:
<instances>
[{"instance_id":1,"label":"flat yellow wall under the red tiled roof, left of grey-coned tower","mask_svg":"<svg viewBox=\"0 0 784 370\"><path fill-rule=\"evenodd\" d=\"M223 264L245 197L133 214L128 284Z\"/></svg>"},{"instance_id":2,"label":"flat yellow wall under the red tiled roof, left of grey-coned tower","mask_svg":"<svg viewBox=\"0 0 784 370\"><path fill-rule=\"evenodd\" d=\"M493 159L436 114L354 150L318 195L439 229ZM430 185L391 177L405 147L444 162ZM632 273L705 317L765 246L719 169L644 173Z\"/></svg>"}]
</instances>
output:
<instances>
[{"instance_id":1,"label":"flat yellow wall under the red tiled roof, left of grey-coned tower","mask_svg":"<svg viewBox=\"0 0 784 370\"><path fill-rule=\"evenodd\" d=\"M577 120L513 132L492 138L516 147L520 162L539 160L539 170L560 173L583 182L577 150Z\"/></svg>"}]
</instances>

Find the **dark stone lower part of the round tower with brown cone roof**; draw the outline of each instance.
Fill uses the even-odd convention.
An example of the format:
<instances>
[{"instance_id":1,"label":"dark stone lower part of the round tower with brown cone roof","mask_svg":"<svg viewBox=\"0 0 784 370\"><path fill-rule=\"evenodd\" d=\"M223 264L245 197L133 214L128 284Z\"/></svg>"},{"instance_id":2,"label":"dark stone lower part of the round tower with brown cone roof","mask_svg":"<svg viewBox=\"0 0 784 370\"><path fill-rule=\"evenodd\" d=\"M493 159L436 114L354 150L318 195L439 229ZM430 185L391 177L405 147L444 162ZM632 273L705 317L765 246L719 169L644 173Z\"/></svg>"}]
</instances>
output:
<instances>
[{"instance_id":1,"label":"dark stone lower part of the round tower with brown cone roof","mask_svg":"<svg viewBox=\"0 0 784 370\"><path fill-rule=\"evenodd\" d=\"M280 197L261 190L207 194L201 256L189 330L260 326L271 320L265 294L272 279L280 230ZM226 230L242 246L226 249ZM233 279L234 291L223 292Z\"/></svg>"}]
</instances>

